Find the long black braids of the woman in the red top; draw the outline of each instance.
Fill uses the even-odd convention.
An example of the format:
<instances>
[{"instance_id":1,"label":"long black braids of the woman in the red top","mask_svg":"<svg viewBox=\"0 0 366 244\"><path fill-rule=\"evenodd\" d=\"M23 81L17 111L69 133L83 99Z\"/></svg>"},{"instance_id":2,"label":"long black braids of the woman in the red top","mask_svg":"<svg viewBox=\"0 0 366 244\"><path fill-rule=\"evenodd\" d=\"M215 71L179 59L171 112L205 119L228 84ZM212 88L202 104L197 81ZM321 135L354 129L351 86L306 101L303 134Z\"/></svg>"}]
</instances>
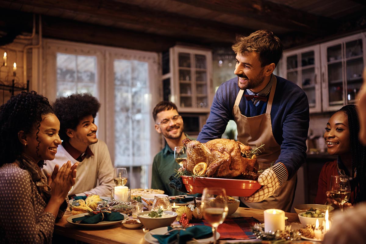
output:
<instances>
[{"instance_id":1,"label":"long black braids of the woman in the red top","mask_svg":"<svg viewBox=\"0 0 366 244\"><path fill-rule=\"evenodd\" d=\"M360 123L358 120L357 106L346 105L339 111L343 111L348 117L348 127L350 128L350 141L351 141L351 154L352 154L352 176L356 172L357 194L355 202L362 202L366 200L366 177L365 177L365 163L366 163L366 147L361 144L358 139L358 133L360 131Z\"/></svg>"}]
</instances>

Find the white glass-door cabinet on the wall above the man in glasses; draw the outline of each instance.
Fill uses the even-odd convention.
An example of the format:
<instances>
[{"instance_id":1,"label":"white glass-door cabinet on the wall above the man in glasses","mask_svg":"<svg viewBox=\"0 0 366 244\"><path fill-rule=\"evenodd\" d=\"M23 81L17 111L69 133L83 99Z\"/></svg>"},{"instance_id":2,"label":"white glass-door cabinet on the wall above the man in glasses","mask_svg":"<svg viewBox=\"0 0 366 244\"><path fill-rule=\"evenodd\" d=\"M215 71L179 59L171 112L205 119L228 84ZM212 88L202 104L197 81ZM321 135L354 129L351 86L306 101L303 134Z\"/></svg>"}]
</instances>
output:
<instances>
[{"instance_id":1,"label":"white glass-door cabinet on the wall above the man in glasses","mask_svg":"<svg viewBox=\"0 0 366 244\"><path fill-rule=\"evenodd\" d=\"M169 63L169 69L165 69L167 74L164 74L164 63ZM164 62L163 56L164 99L174 102L179 112L209 112L213 98L211 74L211 50L184 46L170 48L169 62Z\"/></svg>"}]
</instances>

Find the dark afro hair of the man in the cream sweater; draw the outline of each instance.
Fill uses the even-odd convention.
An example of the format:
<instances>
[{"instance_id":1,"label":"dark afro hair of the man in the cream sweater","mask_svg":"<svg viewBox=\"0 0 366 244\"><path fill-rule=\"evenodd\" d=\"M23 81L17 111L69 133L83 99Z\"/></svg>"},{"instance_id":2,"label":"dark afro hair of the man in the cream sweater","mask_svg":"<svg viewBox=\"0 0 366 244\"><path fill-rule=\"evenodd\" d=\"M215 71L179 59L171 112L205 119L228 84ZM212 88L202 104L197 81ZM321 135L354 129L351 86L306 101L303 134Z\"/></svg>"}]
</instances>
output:
<instances>
[{"instance_id":1,"label":"dark afro hair of the man in the cream sweater","mask_svg":"<svg viewBox=\"0 0 366 244\"><path fill-rule=\"evenodd\" d=\"M60 138L68 141L66 129L76 129L80 120L86 116L97 116L100 103L89 93L76 93L68 97L57 98L53 111L60 120Z\"/></svg>"}]
</instances>

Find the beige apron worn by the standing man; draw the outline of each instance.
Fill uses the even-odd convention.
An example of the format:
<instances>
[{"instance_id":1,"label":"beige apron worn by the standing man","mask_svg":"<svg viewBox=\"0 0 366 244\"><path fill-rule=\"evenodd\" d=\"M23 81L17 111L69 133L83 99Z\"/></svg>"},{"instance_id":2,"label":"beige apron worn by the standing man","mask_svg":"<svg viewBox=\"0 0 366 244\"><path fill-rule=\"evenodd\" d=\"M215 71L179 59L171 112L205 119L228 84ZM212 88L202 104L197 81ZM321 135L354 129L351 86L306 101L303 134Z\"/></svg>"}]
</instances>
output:
<instances>
[{"instance_id":1,"label":"beige apron worn by the standing man","mask_svg":"<svg viewBox=\"0 0 366 244\"><path fill-rule=\"evenodd\" d=\"M276 162L281 153L281 146L276 142L272 133L271 109L273 97L275 95L277 79L272 75L273 84L268 98L266 113L254 117L246 117L240 113L239 103L244 90L240 90L236 97L233 115L238 129L238 140L252 148L264 145L264 150L258 155L259 169L269 168L272 162ZM251 102L251 101L249 101ZM244 204L253 209L282 209L291 211L296 188L296 174L292 179L285 182L280 189L269 198L257 203L247 203L240 198ZM281 195L280 195L281 193Z\"/></svg>"}]
</instances>

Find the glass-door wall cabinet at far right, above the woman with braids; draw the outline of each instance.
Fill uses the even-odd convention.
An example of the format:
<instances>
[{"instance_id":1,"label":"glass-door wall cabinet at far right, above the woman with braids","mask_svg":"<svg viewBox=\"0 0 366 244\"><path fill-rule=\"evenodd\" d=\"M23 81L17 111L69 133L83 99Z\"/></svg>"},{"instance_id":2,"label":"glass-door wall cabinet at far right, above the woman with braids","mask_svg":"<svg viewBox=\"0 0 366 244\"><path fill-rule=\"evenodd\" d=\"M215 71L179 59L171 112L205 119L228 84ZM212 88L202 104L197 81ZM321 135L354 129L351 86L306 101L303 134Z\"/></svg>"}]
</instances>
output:
<instances>
[{"instance_id":1,"label":"glass-door wall cabinet at far right, above the woman with braids","mask_svg":"<svg viewBox=\"0 0 366 244\"><path fill-rule=\"evenodd\" d=\"M321 44L323 111L355 104L365 67L365 33Z\"/></svg>"}]
</instances>

